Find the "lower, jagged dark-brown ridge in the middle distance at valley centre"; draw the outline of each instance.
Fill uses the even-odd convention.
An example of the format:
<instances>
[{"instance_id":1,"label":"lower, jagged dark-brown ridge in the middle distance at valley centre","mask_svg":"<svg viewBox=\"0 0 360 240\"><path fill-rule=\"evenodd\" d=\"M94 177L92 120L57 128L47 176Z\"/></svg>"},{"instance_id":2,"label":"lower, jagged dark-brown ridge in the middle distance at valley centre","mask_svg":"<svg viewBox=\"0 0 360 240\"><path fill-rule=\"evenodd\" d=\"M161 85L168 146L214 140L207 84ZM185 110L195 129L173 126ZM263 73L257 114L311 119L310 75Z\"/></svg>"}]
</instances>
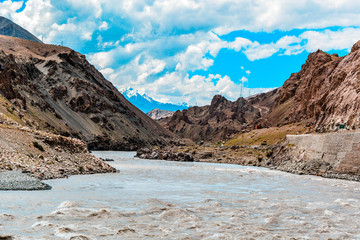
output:
<instances>
[{"instance_id":1,"label":"lower, jagged dark-brown ridge in the middle distance at valley centre","mask_svg":"<svg viewBox=\"0 0 360 240\"><path fill-rule=\"evenodd\" d=\"M218 141L248 128L260 116L259 109L244 98L231 102L216 95L210 105L177 111L162 124L183 138Z\"/></svg>"}]
</instances>

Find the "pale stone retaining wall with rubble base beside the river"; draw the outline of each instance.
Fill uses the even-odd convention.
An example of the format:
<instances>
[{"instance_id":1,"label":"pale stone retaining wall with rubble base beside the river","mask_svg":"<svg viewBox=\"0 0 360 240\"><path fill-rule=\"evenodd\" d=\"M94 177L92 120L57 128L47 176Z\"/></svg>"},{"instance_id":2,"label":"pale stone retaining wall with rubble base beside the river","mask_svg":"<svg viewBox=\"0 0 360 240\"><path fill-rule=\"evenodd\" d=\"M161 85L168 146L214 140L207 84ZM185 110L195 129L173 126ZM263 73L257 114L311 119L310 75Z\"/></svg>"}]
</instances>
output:
<instances>
[{"instance_id":1,"label":"pale stone retaining wall with rubble base beside the river","mask_svg":"<svg viewBox=\"0 0 360 240\"><path fill-rule=\"evenodd\" d=\"M272 168L360 180L360 132L288 135L268 162Z\"/></svg>"}]
</instances>

